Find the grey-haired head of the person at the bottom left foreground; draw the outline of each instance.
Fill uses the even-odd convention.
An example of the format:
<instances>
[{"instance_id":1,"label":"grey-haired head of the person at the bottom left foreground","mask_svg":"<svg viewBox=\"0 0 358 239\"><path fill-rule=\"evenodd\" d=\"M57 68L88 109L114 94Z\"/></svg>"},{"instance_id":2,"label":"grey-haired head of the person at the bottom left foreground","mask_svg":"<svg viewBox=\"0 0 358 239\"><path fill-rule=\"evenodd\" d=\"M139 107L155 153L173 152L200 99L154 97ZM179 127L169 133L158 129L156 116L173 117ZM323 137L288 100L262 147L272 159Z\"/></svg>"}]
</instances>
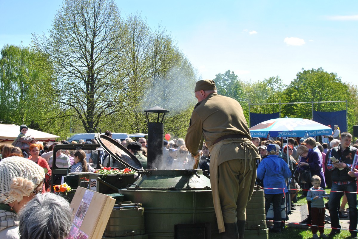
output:
<instances>
[{"instance_id":1,"label":"grey-haired head of the person at the bottom left foreground","mask_svg":"<svg viewBox=\"0 0 358 239\"><path fill-rule=\"evenodd\" d=\"M66 199L53 193L37 194L19 213L20 239L64 239L72 224Z\"/></svg>"}]
</instances>

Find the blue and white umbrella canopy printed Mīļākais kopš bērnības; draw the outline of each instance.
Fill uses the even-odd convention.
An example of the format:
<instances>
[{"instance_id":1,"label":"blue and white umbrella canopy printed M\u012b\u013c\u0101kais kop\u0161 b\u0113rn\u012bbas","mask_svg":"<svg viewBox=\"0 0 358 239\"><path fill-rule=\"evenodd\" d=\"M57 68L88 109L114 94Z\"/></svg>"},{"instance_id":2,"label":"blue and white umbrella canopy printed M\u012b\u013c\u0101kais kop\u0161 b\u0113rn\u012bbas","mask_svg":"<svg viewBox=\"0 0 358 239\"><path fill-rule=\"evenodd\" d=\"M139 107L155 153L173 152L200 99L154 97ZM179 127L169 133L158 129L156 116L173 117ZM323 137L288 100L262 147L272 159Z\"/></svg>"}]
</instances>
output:
<instances>
[{"instance_id":1,"label":"blue and white umbrella canopy printed M\u012b\u013c\u0101kais kop\u0161 b\u0113rn\u012bbas","mask_svg":"<svg viewBox=\"0 0 358 239\"><path fill-rule=\"evenodd\" d=\"M301 118L277 118L263 121L250 128L251 137L266 138L271 137L309 137L319 135L332 135L329 126L320 124L316 121Z\"/></svg>"}]
</instances>

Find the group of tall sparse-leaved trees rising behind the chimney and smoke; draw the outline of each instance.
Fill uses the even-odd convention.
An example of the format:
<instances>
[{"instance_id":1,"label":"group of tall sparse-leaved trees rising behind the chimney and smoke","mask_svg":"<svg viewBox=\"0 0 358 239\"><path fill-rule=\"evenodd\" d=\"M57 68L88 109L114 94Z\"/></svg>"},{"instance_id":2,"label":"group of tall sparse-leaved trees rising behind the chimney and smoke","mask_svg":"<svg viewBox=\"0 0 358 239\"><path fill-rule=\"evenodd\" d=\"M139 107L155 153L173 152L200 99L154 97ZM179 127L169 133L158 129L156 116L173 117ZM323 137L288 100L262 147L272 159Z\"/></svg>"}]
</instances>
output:
<instances>
[{"instance_id":1,"label":"group of tall sparse-leaved trees rising behind the chimney and smoke","mask_svg":"<svg viewBox=\"0 0 358 239\"><path fill-rule=\"evenodd\" d=\"M197 77L165 28L151 30L138 13L122 19L113 0L65 0L49 36L34 35L33 46L54 65L51 104L87 132L101 126L145 133L143 110L177 109L178 99L168 99L183 96ZM173 81L182 87L171 90Z\"/></svg>"}]
</instances>

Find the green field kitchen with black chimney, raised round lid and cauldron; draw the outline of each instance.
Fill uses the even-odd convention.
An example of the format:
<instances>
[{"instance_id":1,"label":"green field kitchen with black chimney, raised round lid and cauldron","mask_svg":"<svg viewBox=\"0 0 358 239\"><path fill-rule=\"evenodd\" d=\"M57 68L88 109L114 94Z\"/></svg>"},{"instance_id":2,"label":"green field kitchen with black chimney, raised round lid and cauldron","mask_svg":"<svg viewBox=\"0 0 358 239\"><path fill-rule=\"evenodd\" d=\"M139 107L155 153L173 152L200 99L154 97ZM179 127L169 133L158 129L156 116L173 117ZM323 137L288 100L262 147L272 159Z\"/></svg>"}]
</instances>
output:
<instances>
[{"instance_id":1,"label":"green field kitchen with black chimney, raised round lid and cauldron","mask_svg":"<svg viewBox=\"0 0 358 239\"><path fill-rule=\"evenodd\" d=\"M110 161L120 161L125 167L136 171L136 178L133 175L106 175L106 178L99 180L97 177L97 186L101 186L95 190L99 189L101 192L102 185L106 185L106 193L117 192L124 195L124 201L141 204L145 208L145 233L149 239L220 238L210 179L203 175L202 170L156 169L163 163L164 115L159 122L159 114L169 111L155 107L145 112L158 113L157 122L148 123L148 169L144 170L139 160L120 143L106 135L96 134L98 143L110 154ZM129 176L129 180L122 179L122 176ZM130 182L131 180L133 182ZM263 190L255 190L258 193L254 193L253 197L257 195L260 199L254 200L255 205L252 206L264 205ZM263 215L260 210L259 215L253 215L253 218L247 215L247 219L249 224L255 224L247 225L247 230L253 230L252 233L248 233L250 238L268 238L264 208ZM110 234L117 235L108 231L105 233Z\"/></svg>"}]
</instances>

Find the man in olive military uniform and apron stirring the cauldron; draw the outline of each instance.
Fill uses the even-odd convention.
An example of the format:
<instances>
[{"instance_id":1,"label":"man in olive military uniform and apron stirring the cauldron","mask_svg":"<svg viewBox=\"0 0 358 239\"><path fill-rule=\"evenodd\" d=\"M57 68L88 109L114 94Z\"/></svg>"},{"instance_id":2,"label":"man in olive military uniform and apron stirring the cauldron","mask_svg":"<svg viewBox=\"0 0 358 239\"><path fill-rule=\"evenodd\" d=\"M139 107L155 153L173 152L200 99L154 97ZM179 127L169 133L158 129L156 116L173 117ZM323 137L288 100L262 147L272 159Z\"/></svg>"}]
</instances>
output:
<instances>
[{"instance_id":1,"label":"man in olive military uniform and apron stirring the cauldron","mask_svg":"<svg viewBox=\"0 0 358 239\"><path fill-rule=\"evenodd\" d=\"M194 159L205 143L211 152L210 181L214 209L222 238L244 238L246 205L256 180L255 159L260 155L251 142L241 105L218 95L213 80L195 86L198 104L190 118L185 145Z\"/></svg>"}]
</instances>

